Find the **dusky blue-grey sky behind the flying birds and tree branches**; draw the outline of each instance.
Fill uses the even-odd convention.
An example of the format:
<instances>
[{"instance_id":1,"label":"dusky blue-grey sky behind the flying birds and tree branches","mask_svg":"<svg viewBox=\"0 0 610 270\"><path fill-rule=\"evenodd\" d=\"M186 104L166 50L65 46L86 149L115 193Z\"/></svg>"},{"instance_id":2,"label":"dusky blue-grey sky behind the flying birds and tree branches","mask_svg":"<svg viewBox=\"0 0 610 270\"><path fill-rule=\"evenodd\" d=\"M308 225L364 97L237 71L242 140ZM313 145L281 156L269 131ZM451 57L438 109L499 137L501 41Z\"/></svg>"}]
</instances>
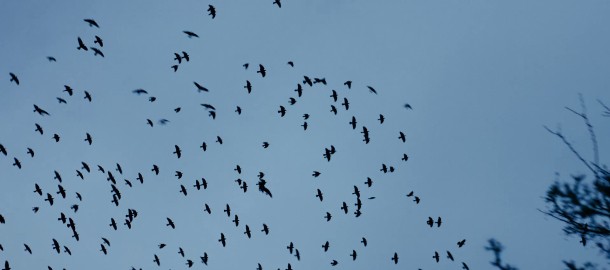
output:
<instances>
[{"instance_id":1,"label":"dusky blue-grey sky behind the flying birds and tree branches","mask_svg":"<svg viewBox=\"0 0 610 270\"><path fill-rule=\"evenodd\" d=\"M212 19L208 4L217 9ZM489 269L492 256L483 247L489 238L506 246L505 259L520 269L560 269L562 260L606 262L579 239L565 237L562 224L538 211L555 179L586 173L586 168L543 129L561 127L569 140L592 157L586 127L564 106L579 109L582 93L599 138L602 164L607 161L609 118L596 99L610 103L610 3L606 1L0 1L0 261L14 269L185 269L186 259L210 269ZM83 19L94 18L100 28ZM183 30L197 33L189 39ZM77 37L93 45L104 40L105 58L77 51ZM173 53L187 51L191 61L174 73ZM57 62L50 63L47 56ZM295 67L286 62L292 60ZM244 70L242 64L250 63ZM267 68L261 78L258 64ZM15 73L21 84L9 82ZM294 106L293 89L303 75L325 77L327 86L306 86ZM243 89L253 84L252 94ZM348 90L346 80L353 81ZM206 86L197 93L193 81ZM75 89L69 97L63 85ZM368 92L371 85L378 95ZM143 88L157 101L136 96ZM335 104L348 97L349 111ZM83 99L91 92L93 102ZM67 100L58 104L56 97ZM199 105L216 107L212 120ZM413 110L406 110L409 103ZM32 113L37 104L51 113ZM233 112L235 106L242 115ZM287 108L280 118L279 105ZM182 107L174 113L175 107ZM302 114L311 115L303 131ZM387 120L380 125L382 113ZM351 116L359 122L352 130ZM146 119L166 118L166 126ZM45 129L34 132L34 123ZM361 124L371 131L362 142ZM407 142L397 139L404 131ZM93 135L92 146L83 142ZM51 136L58 133L61 141ZM223 145L214 143L221 136ZM208 150L198 146L202 141ZM271 146L263 149L261 143ZM180 145L183 157L172 155ZM334 145L331 162L322 158ZM27 147L36 156L26 154ZM408 162L400 161L408 153ZM23 164L11 166L13 157ZM106 175L92 171L75 176L80 162L113 169L123 193L119 207L110 203ZM382 163L396 172L383 174ZM152 164L161 168L154 176ZM241 165L242 175L233 171ZM92 168L94 169L94 168ZM68 198L49 207L33 193L55 193L59 171ZM184 172L177 180L174 171ZM312 171L322 172L319 178ZM256 190L256 175L266 174L272 199ZM137 173L144 185L136 183ZM555 175L559 174L559 177ZM209 188L196 191L195 179ZM233 181L246 180L243 193ZM374 179L371 188L363 182ZM133 188L123 179L134 183ZM178 193L180 184L189 195ZM344 215L342 201L353 205L353 185L363 196L363 215ZM314 196L324 192L323 202ZM405 194L415 191L415 205ZM78 202L74 192L80 192ZM366 198L375 196L376 199ZM69 206L78 203L80 210ZM203 204L212 215L203 212ZM223 212L230 204L239 227ZM37 214L34 206L41 209ZM128 230L120 224L128 208L139 216ZM350 206L350 212L354 207ZM333 219L326 222L326 212ZM81 240L57 221L73 217ZM443 217L430 229L428 216ZM176 229L165 226L171 217ZM260 232L270 226L268 236ZM243 235L244 224L253 231ZM217 242L220 233L227 247ZM363 247L362 236L369 240ZM111 241L100 251L101 237ZM55 254L53 238L70 247L72 256ZM458 249L456 242L467 239ZM327 253L321 245L329 240ZM286 250L294 242L302 259ZM168 246L159 250L157 244ZM29 244L33 255L23 251ZM186 258L177 254L185 250ZM353 262L348 256L358 251ZM435 263L434 251L452 251L456 262ZM397 266L390 261L398 252Z\"/></svg>"}]
</instances>

